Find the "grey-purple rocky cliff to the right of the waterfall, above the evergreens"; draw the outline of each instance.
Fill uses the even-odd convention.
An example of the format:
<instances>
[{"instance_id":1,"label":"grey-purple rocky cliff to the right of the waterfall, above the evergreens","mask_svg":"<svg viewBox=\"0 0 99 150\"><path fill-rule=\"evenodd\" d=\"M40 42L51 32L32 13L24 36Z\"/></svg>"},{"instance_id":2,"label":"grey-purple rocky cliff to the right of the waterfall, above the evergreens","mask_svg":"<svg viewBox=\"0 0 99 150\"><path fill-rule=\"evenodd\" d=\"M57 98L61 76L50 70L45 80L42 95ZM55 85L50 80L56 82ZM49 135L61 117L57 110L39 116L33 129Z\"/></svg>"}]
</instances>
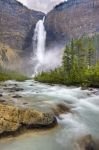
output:
<instances>
[{"instance_id":1,"label":"grey-purple rocky cliff to the right of the waterfall, above the evergreens","mask_svg":"<svg viewBox=\"0 0 99 150\"><path fill-rule=\"evenodd\" d=\"M47 46L99 32L99 0L68 0L48 13Z\"/></svg>"}]
</instances>

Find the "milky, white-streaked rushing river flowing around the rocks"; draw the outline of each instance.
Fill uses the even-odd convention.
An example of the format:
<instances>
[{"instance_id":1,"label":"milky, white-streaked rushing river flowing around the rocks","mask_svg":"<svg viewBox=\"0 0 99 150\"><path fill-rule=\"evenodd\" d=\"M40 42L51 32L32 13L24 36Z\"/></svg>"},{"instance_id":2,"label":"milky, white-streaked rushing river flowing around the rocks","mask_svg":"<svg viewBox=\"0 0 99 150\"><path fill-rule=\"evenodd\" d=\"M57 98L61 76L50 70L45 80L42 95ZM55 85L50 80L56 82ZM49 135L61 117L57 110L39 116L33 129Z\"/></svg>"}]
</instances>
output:
<instances>
[{"instance_id":1,"label":"milky, white-streaked rushing river flowing around the rocks","mask_svg":"<svg viewBox=\"0 0 99 150\"><path fill-rule=\"evenodd\" d=\"M23 90L9 92L14 86ZM76 87L45 85L32 80L1 84L0 92L15 105L49 112L51 106L64 103L71 108L71 113L60 115L59 126L53 130L0 141L0 150L73 150L75 139L80 136L91 134L99 138L99 92L94 90L96 92ZM22 97L13 98L16 94Z\"/></svg>"}]
</instances>

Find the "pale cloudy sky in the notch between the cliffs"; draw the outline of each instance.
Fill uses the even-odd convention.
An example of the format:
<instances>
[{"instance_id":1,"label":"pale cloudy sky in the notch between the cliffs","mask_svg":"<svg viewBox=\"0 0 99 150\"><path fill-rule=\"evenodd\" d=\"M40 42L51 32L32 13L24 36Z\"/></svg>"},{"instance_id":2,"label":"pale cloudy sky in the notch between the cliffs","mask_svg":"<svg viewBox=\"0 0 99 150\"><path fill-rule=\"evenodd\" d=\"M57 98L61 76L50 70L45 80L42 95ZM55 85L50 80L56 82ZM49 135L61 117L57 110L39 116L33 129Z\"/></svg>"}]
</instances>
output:
<instances>
[{"instance_id":1,"label":"pale cloudy sky in the notch between the cliffs","mask_svg":"<svg viewBox=\"0 0 99 150\"><path fill-rule=\"evenodd\" d=\"M64 0L18 0L31 9L48 12L56 4Z\"/></svg>"}]
</instances>

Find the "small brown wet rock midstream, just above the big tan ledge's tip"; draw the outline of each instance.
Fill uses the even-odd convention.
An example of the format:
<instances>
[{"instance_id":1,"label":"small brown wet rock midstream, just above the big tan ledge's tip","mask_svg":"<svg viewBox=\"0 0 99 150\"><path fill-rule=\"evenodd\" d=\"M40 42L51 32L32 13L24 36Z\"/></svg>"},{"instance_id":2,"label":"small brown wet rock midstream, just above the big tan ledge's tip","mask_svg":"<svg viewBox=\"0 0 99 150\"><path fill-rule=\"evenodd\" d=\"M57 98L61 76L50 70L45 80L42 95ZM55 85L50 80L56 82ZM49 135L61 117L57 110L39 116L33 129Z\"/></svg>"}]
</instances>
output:
<instances>
[{"instance_id":1,"label":"small brown wet rock midstream, just above the big tan ledge's tip","mask_svg":"<svg viewBox=\"0 0 99 150\"><path fill-rule=\"evenodd\" d=\"M59 103L56 106L52 107L54 114L59 117L60 114L71 112L70 108L64 103Z\"/></svg>"}]
</instances>

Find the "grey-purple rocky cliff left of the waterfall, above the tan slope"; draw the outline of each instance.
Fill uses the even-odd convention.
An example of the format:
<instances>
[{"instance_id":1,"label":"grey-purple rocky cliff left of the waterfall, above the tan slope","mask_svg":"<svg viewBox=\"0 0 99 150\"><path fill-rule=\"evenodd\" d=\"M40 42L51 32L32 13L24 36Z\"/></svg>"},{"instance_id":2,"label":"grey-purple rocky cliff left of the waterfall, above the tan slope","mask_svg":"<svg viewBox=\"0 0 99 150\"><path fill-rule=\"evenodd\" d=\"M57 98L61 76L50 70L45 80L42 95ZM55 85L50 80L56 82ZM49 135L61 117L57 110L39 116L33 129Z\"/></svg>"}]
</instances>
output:
<instances>
[{"instance_id":1,"label":"grey-purple rocky cliff left of the waterfall, above the tan slope","mask_svg":"<svg viewBox=\"0 0 99 150\"><path fill-rule=\"evenodd\" d=\"M17 49L19 55L29 55L35 25L43 16L16 0L0 0L0 42Z\"/></svg>"}]
</instances>

